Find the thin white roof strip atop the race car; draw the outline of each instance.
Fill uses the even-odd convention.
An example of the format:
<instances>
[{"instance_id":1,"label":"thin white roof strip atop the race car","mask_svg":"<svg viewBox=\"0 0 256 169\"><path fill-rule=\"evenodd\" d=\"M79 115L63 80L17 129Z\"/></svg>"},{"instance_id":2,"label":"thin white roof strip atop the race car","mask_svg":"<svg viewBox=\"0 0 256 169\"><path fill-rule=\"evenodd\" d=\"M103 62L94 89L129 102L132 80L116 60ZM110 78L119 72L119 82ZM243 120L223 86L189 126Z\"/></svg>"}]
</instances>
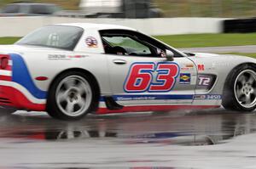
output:
<instances>
[{"instance_id":1,"label":"thin white roof strip atop the race car","mask_svg":"<svg viewBox=\"0 0 256 169\"><path fill-rule=\"evenodd\" d=\"M56 24L56 25L72 25L72 26L81 27L84 30L86 30L86 29L95 29L95 30L122 29L122 30L136 31L133 28L126 27L123 25L92 24L92 23L69 23L69 24Z\"/></svg>"}]
</instances>

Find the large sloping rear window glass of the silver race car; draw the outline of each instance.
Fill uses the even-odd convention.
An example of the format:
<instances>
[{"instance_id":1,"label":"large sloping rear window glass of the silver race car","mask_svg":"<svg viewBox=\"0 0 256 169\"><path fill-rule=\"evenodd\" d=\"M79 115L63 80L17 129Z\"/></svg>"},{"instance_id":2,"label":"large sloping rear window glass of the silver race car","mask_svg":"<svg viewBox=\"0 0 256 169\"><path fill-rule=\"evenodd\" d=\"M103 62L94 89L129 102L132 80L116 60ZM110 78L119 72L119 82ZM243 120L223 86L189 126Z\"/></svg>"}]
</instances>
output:
<instances>
[{"instance_id":1,"label":"large sloping rear window glass of the silver race car","mask_svg":"<svg viewBox=\"0 0 256 169\"><path fill-rule=\"evenodd\" d=\"M73 50L82 34L83 29L79 27L48 25L33 31L15 44Z\"/></svg>"}]
</instances>

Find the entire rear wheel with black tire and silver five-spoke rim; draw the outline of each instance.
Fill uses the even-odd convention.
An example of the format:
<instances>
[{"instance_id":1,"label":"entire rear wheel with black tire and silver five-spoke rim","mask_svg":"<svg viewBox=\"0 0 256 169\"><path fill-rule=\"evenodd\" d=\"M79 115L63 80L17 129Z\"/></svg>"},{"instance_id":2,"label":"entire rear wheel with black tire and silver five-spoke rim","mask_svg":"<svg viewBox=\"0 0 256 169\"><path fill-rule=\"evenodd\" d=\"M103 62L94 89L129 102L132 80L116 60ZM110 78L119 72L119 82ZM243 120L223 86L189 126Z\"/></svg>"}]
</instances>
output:
<instances>
[{"instance_id":1,"label":"entire rear wheel with black tire and silver five-spoke rim","mask_svg":"<svg viewBox=\"0 0 256 169\"><path fill-rule=\"evenodd\" d=\"M71 71L57 77L49 90L47 111L61 120L78 120L95 109L96 88L93 79Z\"/></svg>"}]
</instances>

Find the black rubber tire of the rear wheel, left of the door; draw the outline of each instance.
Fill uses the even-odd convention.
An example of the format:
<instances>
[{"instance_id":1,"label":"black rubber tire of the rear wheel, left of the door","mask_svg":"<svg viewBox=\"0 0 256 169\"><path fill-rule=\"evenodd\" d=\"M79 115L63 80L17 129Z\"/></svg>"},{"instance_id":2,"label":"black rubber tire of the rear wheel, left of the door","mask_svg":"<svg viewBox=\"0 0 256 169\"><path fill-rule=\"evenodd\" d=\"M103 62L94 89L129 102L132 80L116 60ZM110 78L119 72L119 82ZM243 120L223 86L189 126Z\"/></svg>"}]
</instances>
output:
<instances>
[{"instance_id":1,"label":"black rubber tire of the rear wheel, left of the door","mask_svg":"<svg viewBox=\"0 0 256 169\"><path fill-rule=\"evenodd\" d=\"M76 80L72 79L74 77L79 78L79 80L82 81L82 82L79 82L79 83L81 83L80 85L84 85L84 83L87 82L86 85L90 87L90 93L91 93L91 97L88 102L86 102L88 93L83 93L83 94L80 93L80 96L79 96L79 94L77 94L77 96L79 96L81 98L85 97L84 98L85 101L84 100L83 101L84 101L84 104L86 103L86 106L84 106L83 109L81 107L81 110L79 111L78 115L68 114L67 113L68 103L67 103L66 109L65 109L65 104L62 104L61 102L59 103L59 100L57 99L57 94L61 93L59 91L61 91L61 90L65 91L65 87L64 87L65 80L67 79L67 81L68 81L68 79L70 78L72 81L75 82ZM62 83L63 83L63 87L61 86ZM75 82L75 83L77 83L77 82ZM79 85L79 84L75 84L75 85ZM61 87L64 89L61 89ZM84 88L84 90L85 90L85 87L83 87L83 86L80 88ZM78 91L71 92L71 90L75 90L75 89L73 89L72 85L67 90L69 92L67 92L67 91L63 92L63 93L67 93L66 102L69 102L69 103L73 103L73 101L74 102L76 101L75 99L79 98L79 97L76 97L76 94L73 94L71 96L72 93L79 93ZM79 72L79 71L75 71L75 70L62 73L60 76L56 77L55 81L52 83L51 87L49 88L49 95L48 95L48 99L47 99L46 111L48 112L48 114L50 116L54 117L55 119L66 120L66 121L79 120L82 117L84 117L84 115L87 115L90 112L96 110L96 108L98 106L98 93L99 93L99 91L98 91L98 87L96 85L96 80L92 76L85 74L84 72ZM64 97L62 97L62 99L63 98ZM75 111L75 106L79 107L78 105L73 104L74 111Z\"/></svg>"}]
</instances>

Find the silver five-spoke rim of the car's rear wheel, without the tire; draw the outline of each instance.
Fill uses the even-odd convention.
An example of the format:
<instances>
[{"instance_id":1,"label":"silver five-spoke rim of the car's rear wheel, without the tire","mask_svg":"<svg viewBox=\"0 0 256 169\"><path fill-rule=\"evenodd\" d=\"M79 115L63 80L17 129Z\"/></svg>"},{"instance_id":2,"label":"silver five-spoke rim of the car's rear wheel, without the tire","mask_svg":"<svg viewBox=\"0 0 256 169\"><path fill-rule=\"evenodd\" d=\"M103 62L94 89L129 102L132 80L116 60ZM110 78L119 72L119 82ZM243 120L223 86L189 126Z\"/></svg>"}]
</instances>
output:
<instances>
[{"instance_id":1,"label":"silver five-spoke rim of the car's rear wheel, without the tire","mask_svg":"<svg viewBox=\"0 0 256 169\"><path fill-rule=\"evenodd\" d=\"M90 84L81 76L67 76L59 83L55 99L65 115L83 115L92 101Z\"/></svg>"}]
</instances>

